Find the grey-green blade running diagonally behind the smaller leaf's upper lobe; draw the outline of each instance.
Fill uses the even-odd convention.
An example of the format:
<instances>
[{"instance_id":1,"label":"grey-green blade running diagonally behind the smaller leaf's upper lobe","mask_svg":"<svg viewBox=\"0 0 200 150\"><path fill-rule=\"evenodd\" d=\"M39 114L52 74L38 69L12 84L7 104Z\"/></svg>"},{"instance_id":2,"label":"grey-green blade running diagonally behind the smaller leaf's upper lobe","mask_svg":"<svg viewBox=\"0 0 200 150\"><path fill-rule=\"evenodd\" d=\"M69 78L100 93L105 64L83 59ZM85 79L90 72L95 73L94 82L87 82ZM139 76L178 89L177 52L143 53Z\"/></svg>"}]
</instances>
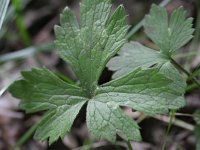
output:
<instances>
[{"instance_id":1,"label":"grey-green blade running diagonally behind the smaller leaf's upper lobe","mask_svg":"<svg viewBox=\"0 0 200 150\"><path fill-rule=\"evenodd\" d=\"M159 6L166 6L167 4L169 4L171 2L171 0L164 0L163 2L161 2L159 4ZM143 26L144 23L144 19L142 19L138 24L136 24L126 35L126 39L130 39L138 30L140 30L140 28Z\"/></svg>"}]
</instances>

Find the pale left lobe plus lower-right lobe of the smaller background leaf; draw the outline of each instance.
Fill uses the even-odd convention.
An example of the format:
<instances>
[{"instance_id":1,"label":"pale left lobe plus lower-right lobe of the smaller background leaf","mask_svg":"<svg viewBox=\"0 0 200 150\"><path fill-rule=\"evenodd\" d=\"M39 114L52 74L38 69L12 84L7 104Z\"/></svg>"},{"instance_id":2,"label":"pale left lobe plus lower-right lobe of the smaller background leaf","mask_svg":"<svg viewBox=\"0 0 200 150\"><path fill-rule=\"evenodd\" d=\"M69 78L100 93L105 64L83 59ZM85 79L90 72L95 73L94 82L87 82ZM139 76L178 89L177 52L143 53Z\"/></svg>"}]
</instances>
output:
<instances>
[{"instance_id":1,"label":"pale left lobe plus lower-right lobe of the smaller background leaf","mask_svg":"<svg viewBox=\"0 0 200 150\"><path fill-rule=\"evenodd\" d=\"M124 74L141 67L157 67L160 73L173 80L170 84L171 89L183 94L186 89L186 79L181 76L179 71L171 64L170 59L159 51L145 47L137 42L125 44L119 55L112 58L107 67L115 71L113 78L118 78Z\"/></svg>"}]
</instances>

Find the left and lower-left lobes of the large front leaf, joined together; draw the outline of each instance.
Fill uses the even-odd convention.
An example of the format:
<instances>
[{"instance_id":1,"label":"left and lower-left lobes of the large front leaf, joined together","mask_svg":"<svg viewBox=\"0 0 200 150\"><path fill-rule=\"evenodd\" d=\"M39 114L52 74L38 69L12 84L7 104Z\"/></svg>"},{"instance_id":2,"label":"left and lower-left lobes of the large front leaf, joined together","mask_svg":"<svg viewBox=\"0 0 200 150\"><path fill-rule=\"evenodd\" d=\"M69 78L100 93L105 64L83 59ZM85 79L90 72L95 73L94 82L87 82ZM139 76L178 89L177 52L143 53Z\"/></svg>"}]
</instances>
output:
<instances>
[{"instance_id":1,"label":"left and lower-left lobes of the large front leaf, joined together","mask_svg":"<svg viewBox=\"0 0 200 150\"><path fill-rule=\"evenodd\" d=\"M69 85L47 69L32 69L22 75L24 79L9 88L13 96L21 99L20 107L29 113L47 110L36 139L49 139L51 144L64 137L87 100L80 88Z\"/></svg>"}]
</instances>

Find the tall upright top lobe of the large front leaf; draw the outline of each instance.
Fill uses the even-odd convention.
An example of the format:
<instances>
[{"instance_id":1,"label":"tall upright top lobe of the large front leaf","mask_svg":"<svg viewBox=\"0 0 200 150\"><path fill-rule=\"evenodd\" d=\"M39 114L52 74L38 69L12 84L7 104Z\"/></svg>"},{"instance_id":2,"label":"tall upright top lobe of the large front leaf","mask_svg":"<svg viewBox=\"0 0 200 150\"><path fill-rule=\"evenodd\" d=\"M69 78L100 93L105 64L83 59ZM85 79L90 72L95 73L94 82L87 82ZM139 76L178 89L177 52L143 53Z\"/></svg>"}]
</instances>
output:
<instances>
[{"instance_id":1,"label":"tall upright top lobe of the large front leaf","mask_svg":"<svg viewBox=\"0 0 200 150\"><path fill-rule=\"evenodd\" d=\"M106 63L125 42L124 8L119 6L109 16L111 6L109 0L84 0L80 25L67 8L61 15L61 27L55 27L60 57L71 65L87 96L94 95Z\"/></svg>"}]
</instances>

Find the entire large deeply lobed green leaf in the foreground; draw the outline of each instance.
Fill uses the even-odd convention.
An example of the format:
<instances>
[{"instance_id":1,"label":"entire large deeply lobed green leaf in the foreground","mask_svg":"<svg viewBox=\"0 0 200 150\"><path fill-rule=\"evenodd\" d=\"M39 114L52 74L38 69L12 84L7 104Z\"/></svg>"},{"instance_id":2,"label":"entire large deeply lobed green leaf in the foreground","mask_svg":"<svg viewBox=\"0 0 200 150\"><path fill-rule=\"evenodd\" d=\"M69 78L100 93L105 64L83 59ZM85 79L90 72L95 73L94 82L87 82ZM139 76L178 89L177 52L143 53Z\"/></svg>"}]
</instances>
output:
<instances>
[{"instance_id":1,"label":"entire large deeply lobed green leaf in the foreground","mask_svg":"<svg viewBox=\"0 0 200 150\"><path fill-rule=\"evenodd\" d=\"M10 92L21 99L20 107L26 112L46 111L36 130L36 139L51 144L64 137L87 103L86 122L92 135L111 142L115 142L116 135L139 141L138 125L120 107L151 114L167 113L184 106L182 93L174 90L173 81L160 73L163 66L133 69L98 85L106 63L125 42L126 15L122 6L111 14L109 0L84 0L80 9L80 23L67 8L60 17L61 26L55 27L60 57L71 65L80 85L69 84L47 69L33 69L23 71L23 79L12 84ZM166 62L157 56L161 55L156 53L146 66L156 63L151 62L153 59ZM138 61L135 66L141 63ZM163 70L168 73L168 69Z\"/></svg>"}]
</instances>

